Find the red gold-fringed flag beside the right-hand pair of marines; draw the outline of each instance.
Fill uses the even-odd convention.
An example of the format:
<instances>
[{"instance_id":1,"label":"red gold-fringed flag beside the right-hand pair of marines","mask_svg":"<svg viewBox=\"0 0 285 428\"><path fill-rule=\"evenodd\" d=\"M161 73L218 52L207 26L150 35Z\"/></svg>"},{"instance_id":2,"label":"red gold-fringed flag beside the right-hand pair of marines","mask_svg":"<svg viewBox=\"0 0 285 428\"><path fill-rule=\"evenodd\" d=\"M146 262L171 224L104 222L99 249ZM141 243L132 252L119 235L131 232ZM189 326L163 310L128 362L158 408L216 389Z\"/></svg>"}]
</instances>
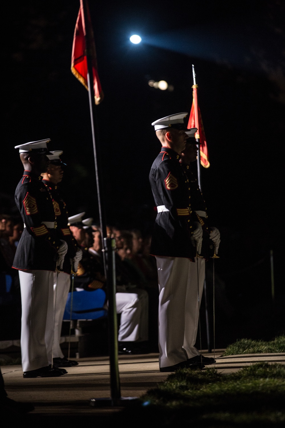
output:
<instances>
[{"instance_id":1,"label":"red gold-fringed flag beside the right-hand pair of marines","mask_svg":"<svg viewBox=\"0 0 285 428\"><path fill-rule=\"evenodd\" d=\"M193 85L193 102L190 112L190 117L188 121L188 129L189 128L198 128L195 138L200 138L200 156L201 156L201 165L204 166L204 168L209 168L209 158L208 158L208 149L207 149L207 143L206 143L206 137L205 137L205 131L203 127L200 107L198 105L197 100L197 85Z\"/></svg>"}]
</instances>

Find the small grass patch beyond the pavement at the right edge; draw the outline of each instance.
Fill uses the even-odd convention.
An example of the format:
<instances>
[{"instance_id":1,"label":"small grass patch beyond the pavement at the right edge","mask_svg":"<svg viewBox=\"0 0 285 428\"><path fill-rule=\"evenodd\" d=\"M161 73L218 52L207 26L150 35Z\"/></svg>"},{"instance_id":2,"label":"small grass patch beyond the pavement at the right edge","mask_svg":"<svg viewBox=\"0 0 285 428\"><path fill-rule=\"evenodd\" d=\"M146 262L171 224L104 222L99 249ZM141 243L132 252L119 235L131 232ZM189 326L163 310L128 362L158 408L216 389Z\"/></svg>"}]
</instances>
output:
<instances>
[{"instance_id":1,"label":"small grass patch beyond the pavement at the right edge","mask_svg":"<svg viewBox=\"0 0 285 428\"><path fill-rule=\"evenodd\" d=\"M229 345L223 353L227 355L239 354L269 354L285 352L285 336L277 336L274 340L265 342L264 340L241 339Z\"/></svg>"}]
</instances>

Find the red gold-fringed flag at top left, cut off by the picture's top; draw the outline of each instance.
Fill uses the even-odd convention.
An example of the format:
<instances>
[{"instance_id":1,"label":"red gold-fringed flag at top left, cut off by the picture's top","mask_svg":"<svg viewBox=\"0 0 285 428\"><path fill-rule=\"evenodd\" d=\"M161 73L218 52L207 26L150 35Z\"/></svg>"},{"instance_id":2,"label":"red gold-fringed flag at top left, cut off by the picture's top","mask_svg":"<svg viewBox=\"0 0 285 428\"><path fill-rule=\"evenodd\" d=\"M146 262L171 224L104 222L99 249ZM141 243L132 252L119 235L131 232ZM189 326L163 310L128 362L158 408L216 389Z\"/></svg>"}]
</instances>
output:
<instances>
[{"instance_id":1,"label":"red gold-fringed flag at top left, cut off by the picture's top","mask_svg":"<svg viewBox=\"0 0 285 428\"><path fill-rule=\"evenodd\" d=\"M88 9L88 3L85 2L85 12L87 22L84 20L83 1L80 0L80 9L77 16L76 26L73 36L72 55L71 55L71 71L74 76L88 90L87 83L87 56L86 56L86 40L88 41L88 49L92 57L93 83L95 93L95 104L100 104L103 100L103 91L97 71L97 56L93 30L91 26L91 18Z\"/></svg>"}]
</instances>

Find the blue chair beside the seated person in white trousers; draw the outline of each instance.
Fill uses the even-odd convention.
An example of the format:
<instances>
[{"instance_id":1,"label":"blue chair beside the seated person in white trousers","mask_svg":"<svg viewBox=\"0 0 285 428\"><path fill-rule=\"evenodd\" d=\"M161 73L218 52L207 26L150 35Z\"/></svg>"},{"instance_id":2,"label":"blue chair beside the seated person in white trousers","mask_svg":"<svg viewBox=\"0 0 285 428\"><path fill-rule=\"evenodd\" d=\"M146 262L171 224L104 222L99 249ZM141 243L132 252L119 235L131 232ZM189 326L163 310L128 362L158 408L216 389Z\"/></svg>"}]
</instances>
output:
<instances>
[{"instance_id":1,"label":"blue chair beside the seated person in white trousers","mask_svg":"<svg viewBox=\"0 0 285 428\"><path fill-rule=\"evenodd\" d=\"M102 288L94 291L73 291L72 320L95 320L106 317L107 311L103 308L106 301L106 293ZM70 320L71 293L65 305L64 320Z\"/></svg>"}]
</instances>

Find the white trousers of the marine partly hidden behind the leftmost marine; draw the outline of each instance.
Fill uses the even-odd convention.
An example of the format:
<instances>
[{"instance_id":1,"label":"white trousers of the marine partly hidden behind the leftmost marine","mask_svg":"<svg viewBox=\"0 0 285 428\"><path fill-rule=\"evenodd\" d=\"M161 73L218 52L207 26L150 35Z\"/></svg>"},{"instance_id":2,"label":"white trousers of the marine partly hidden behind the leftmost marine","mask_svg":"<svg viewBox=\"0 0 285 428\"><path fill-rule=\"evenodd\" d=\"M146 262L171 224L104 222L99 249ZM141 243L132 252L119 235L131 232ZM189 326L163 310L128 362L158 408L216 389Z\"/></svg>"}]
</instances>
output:
<instances>
[{"instance_id":1,"label":"white trousers of the marine partly hidden behind the leftmost marine","mask_svg":"<svg viewBox=\"0 0 285 428\"><path fill-rule=\"evenodd\" d=\"M53 272L53 299L49 299L49 304L53 307L49 311L54 311L54 319L49 318L46 324L46 331L44 339L47 347L47 358L49 364L52 363L52 350L53 358L63 358L62 350L60 348L60 335L62 331L62 318L65 312L66 300L70 288L70 275L65 272ZM53 333L54 324L54 333ZM53 336L54 334L54 336Z\"/></svg>"}]
</instances>

